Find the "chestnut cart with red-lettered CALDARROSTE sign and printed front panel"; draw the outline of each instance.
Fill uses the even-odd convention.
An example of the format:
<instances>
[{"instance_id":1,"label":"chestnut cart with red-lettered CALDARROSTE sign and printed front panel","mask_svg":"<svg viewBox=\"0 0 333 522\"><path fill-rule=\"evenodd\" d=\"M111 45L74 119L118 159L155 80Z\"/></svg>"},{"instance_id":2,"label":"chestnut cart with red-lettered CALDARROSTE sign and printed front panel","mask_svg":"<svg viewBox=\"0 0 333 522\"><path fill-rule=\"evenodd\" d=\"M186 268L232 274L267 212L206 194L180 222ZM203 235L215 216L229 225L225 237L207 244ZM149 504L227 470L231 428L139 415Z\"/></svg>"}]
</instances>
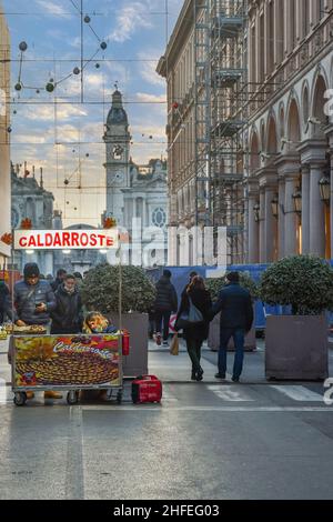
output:
<instances>
[{"instance_id":1,"label":"chestnut cart with red-lettered CALDARROSTE sign and printed front panel","mask_svg":"<svg viewBox=\"0 0 333 522\"><path fill-rule=\"evenodd\" d=\"M14 251L29 249L119 249L119 333L49 335L38 327L14 328L10 339L12 391L18 406L27 392L67 391L69 404L77 404L81 390L107 390L122 401L122 357L128 335L121 324L121 242L118 230L32 231L16 230ZM120 333L122 332L122 333Z\"/></svg>"}]
</instances>

